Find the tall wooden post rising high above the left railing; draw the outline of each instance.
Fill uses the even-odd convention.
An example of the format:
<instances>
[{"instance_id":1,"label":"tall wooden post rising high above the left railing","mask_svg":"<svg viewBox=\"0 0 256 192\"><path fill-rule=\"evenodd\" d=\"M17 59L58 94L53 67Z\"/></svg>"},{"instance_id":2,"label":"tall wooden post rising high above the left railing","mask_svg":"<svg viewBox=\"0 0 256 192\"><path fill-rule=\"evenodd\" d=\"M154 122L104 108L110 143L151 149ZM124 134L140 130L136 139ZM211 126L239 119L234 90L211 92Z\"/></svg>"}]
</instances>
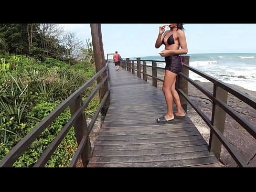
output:
<instances>
[{"instance_id":1,"label":"tall wooden post rising high above the left railing","mask_svg":"<svg viewBox=\"0 0 256 192\"><path fill-rule=\"evenodd\" d=\"M93 46L93 54L95 61L96 72L100 71L103 67L105 67L105 58L103 51L103 43L101 36L101 25L100 24L91 24L91 34L92 34L92 46ZM105 73L102 73L101 76L97 79L99 84L100 81L106 76ZM108 91L108 82L105 81L103 86L99 90L100 101L104 97L104 94ZM101 114L104 119L106 112L108 111L110 105L110 97L108 97L102 106Z\"/></svg>"}]
</instances>

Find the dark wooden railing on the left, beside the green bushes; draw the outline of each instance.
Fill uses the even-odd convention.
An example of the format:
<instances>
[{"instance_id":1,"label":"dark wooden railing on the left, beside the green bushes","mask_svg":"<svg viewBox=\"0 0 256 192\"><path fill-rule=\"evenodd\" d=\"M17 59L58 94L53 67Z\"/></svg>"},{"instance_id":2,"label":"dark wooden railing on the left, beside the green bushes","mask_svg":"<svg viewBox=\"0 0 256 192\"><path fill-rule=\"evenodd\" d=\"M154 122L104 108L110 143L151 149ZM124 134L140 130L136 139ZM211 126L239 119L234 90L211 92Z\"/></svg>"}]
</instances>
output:
<instances>
[{"instance_id":1,"label":"dark wooden railing on the left, beside the green bushes","mask_svg":"<svg viewBox=\"0 0 256 192\"><path fill-rule=\"evenodd\" d=\"M44 130L68 107L70 108L71 118L62 130L56 136L56 138L47 147L44 153L40 156L34 167L44 167L48 162L51 155L55 152L58 145L61 143L63 138L67 135L71 127L74 127L74 132L76 134L78 148L76 153L72 158L70 167L75 167L79 157L81 156L83 166L86 167L89 159L92 155L92 148L90 142L90 133L93 129L93 125L97 120L99 113L106 106L105 101L109 98L109 65L106 63L100 71L98 71L89 81L83 84L76 92L72 93L65 101L63 101L54 111L52 111L44 120L42 120L35 128L30 131L22 140L15 145L12 150L1 160L0 167L12 167L17 161L19 156L21 156L27 148L33 143L36 138L44 132ZM98 86L91 92L88 98L82 101L82 92L86 90L95 80L98 81ZM106 83L107 82L107 83ZM104 86L107 84L108 86ZM90 124L87 126L85 120L85 110L89 105L90 101L93 99L94 95L101 89L106 90L102 97L100 97L100 104L97 111L93 115Z\"/></svg>"}]
</instances>

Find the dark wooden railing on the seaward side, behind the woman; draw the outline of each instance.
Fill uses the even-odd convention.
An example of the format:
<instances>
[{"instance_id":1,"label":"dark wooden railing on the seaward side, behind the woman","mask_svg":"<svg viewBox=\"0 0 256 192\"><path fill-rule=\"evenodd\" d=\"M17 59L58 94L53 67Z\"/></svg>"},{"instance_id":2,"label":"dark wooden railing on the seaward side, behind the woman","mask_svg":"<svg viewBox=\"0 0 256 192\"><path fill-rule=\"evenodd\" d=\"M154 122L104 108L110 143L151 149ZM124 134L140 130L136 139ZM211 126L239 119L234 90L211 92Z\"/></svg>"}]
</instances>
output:
<instances>
[{"instance_id":1,"label":"dark wooden railing on the seaward side, behind the woman","mask_svg":"<svg viewBox=\"0 0 256 192\"><path fill-rule=\"evenodd\" d=\"M225 120L226 114L228 113L232 119L237 121L251 136L256 138L255 127L244 119L238 112L234 111L230 106L227 105L228 93L234 95L244 103L247 103L253 109L256 109L256 102L254 99L248 95L237 91L236 89L228 86L227 84L215 79L208 74L201 72L193 67L189 66L189 56L182 56L184 67L182 71L177 76L176 87L180 95L180 102L182 103L183 109L187 112L187 104L189 103L195 111L199 114L202 120L210 127L210 138L209 138L209 148L210 152L213 152L215 156L220 159L221 145L225 146L231 157L240 167L247 167L247 163L238 153L236 148L229 143L227 137L223 135L225 130ZM142 62L142 65L141 65ZM147 62L152 65L147 65ZM157 62L164 63L165 61L156 60L141 60L141 58L136 58L136 60L125 59L121 62L121 67L127 71L135 74L137 77L142 78L147 81L148 77L152 78L152 86L157 87L157 81L162 81L163 79L157 77L157 70L164 70L164 68L157 67ZM147 73L147 68L152 68L151 74ZM213 93L206 90L197 82L189 78L189 70L197 73L199 76L209 80L214 83ZM188 82L193 84L198 90L204 93L212 101L212 116L211 120L207 115L202 112L199 107L188 97Z\"/></svg>"}]
</instances>

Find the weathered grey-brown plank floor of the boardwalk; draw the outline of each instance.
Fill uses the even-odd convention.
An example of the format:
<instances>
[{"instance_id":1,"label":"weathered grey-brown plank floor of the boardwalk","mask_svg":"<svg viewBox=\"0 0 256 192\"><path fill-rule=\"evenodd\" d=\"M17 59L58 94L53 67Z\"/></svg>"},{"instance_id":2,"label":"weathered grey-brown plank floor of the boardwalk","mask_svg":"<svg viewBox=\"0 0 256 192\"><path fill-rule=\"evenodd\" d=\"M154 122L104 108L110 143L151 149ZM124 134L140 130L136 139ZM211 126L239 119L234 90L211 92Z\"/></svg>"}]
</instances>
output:
<instances>
[{"instance_id":1,"label":"weathered grey-brown plank floor of the boardwalk","mask_svg":"<svg viewBox=\"0 0 256 192\"><path fill-rule=\"evenodd\" d=\"M166 111L161 89L110 63L110 106L87 167L220 167L188 117L156 122Z\"/></svg>"}]
</instances>

